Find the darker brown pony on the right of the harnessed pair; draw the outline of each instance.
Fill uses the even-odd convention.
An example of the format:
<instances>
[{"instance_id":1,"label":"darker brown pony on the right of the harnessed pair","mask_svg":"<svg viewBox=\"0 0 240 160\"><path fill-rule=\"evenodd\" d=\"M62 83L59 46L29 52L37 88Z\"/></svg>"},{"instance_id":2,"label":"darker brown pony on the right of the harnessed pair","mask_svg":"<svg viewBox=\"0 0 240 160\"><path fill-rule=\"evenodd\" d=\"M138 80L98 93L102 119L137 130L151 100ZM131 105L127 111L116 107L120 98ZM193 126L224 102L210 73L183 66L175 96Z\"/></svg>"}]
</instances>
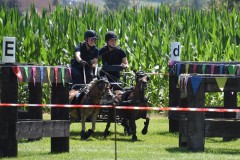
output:
<instances>
[{"instance_id":1,"label":"darker brown pony on the right of the harnessed pair","mask_svg":"<svg viewBox=\"0 0 240 160\"><path fill-rule=\"evenodd\" d=\"M119 105L121 106L147 106L147 98L145 96L148 85L149 77L143 72L135 72L136 84L129 91L116 90L114 94L118 97ZM146 119L144 122L144 128L142 134L147 134L148 125L150 118L146 110L117 110L116 114L122 119L122 125L132 134L132 140L137 140L136 135L136 120L143 118ZM110 123L114 121L114 112L112 109L109 110L108 122L104 131L104 138L106 138L110 131Z\"/></svg>"}]
</instances>

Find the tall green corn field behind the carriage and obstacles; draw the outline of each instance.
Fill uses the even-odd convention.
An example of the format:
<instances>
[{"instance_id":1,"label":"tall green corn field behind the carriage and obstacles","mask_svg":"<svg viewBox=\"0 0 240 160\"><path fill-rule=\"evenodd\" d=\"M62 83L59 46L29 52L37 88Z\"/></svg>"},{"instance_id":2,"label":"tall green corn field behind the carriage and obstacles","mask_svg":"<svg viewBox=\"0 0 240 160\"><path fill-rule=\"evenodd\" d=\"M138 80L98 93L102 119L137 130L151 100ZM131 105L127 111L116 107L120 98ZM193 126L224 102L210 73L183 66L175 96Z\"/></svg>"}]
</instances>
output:
<instances>
[{"instance_id":1,"label":"tall green corn field behind the carriage and obstacles","mask_svg":"<svg viewBox=\"0 0 240 160\"><path fill-rule=\"evenodd\" d=\"M18 62L67 65L86 30L97 31L99 48L105 43L106 31L114 30L127 53L129 70L166 73L173 41L182 45L182 61L239 61L239 15L236 8L173 10L166 5L118 11L103 11L90 4L81 8L57 5L41 15L34 6L25 13L2 7L0 42L4 36L17 38ZM154 75L150 79L150 105L168 106L168 77Z\"/></svg>"}]
</instances>

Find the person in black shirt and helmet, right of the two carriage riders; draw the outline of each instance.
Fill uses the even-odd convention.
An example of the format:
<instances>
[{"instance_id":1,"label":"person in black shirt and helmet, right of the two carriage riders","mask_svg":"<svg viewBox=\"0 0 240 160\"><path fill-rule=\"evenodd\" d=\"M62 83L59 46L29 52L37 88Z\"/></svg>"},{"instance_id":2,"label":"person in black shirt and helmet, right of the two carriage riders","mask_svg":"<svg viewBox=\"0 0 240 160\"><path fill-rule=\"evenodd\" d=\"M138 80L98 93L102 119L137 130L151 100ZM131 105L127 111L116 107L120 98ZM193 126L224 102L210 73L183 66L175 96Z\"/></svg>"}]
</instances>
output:
<instances>
[{"instance_id":1,"label":"person in black shirt and helmet, right of the two carriage riders","mask_svg":"<svg viewBox=\"0 0 240 160\"><path fill-rule=\"evenodd\" d=\"M121 65L124 69L126 69L128 68L127 56L123 49L117 46L117 39L118 36L115 32L108 31L105 35L106 45L99 50L99 56L102 57L103 66ZM110 82L116 82L120 79L120 72L109 71L106 76Z\"/></svg>"}]
</instances>

